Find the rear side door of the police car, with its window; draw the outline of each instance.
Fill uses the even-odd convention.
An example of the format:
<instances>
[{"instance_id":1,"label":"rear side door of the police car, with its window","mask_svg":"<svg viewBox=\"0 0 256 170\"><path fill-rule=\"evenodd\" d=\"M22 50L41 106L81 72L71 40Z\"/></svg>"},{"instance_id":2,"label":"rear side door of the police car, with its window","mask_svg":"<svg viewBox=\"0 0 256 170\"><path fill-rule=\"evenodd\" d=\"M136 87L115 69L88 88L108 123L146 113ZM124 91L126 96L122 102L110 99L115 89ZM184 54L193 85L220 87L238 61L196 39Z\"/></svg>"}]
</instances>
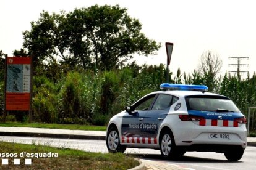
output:
<instances>
[{"instance_id":1,"label":"rear side door of the police car, with its window","mask_svg":"<svg viewBox=\"0 0 256 170\"><path fill-rule=\"evenodd\" d=\"M142 128L143 137L145 137L148 144L157 144L156 136L158 134L158 128L169 112L172 99L172 95L159 94L151 110L145 113Z\"/></svg>"}]
</instances>

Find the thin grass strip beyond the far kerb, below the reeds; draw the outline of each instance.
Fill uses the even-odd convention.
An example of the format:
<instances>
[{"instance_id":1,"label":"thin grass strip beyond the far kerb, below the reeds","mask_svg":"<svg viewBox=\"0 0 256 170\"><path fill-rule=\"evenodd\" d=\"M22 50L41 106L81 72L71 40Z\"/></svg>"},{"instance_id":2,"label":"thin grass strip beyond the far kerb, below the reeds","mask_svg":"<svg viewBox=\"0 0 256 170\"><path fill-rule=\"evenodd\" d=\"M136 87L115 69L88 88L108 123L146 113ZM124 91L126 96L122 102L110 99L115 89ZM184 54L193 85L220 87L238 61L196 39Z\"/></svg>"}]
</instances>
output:
<instances>
[{"instance_id":1,"label":"thin grass strip beyond the far kerb, below the reeds","mask_svg":"<svg viewBox=\"0 0 256 170\"><path fill-rule=\"evenodd\" d=\"M48 124L48 123L6 122L6 123L0 123L0 127L34 127L34 128L49 128L49 129L106 131L106 126L93 126L93 125L80 125L80 124Z\"/></svg>"}]
</instances>

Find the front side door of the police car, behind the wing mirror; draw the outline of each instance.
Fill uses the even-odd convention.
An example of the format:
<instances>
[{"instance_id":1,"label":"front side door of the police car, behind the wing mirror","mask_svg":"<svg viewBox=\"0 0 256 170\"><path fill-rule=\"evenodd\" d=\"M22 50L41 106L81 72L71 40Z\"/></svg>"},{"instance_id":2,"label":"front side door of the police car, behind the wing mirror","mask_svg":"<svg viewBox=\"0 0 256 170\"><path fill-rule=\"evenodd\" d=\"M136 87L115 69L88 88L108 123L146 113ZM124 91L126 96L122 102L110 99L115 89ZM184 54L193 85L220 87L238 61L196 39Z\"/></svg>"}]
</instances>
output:
<instances>
[{"instance_id":1,"label":"front side door of the police car, behind the wing mirror","mask_svg":"<svg viewBox=\"0 0 256 170\"><path fill-rule=\"evenodd\" d=\"M124 144L140 144L142 143L143 137L143 121L145 114L148 112L153 101L155 100L156 94L147 95L141 100L136 102L132 108L132 113L124 114L122 118L122 143Z\"/></svg>"}]
</instances>

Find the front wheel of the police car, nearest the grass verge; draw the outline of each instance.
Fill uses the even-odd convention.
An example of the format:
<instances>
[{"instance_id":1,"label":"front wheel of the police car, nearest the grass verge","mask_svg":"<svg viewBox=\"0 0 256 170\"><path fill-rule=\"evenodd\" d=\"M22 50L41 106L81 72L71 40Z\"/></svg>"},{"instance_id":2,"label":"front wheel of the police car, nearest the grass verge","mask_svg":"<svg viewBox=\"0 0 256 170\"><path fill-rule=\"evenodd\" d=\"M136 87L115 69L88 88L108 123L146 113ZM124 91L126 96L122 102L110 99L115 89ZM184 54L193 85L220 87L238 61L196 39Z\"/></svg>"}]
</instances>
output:
<instances>
[{"instance_id":1,"label":"front wheel of the police car, nearest the grass verge","mask_svg":"<svg viewBox=\"0 0 256 170\"><path fill-rule=\"evenodd\" d=\"M109 128L107 133L106 145L108 148L108 152L110 153L124 153L124 151L126 150L126 147L120 144L120 137L116 127Z\"/></svg>"}]
</instances>

